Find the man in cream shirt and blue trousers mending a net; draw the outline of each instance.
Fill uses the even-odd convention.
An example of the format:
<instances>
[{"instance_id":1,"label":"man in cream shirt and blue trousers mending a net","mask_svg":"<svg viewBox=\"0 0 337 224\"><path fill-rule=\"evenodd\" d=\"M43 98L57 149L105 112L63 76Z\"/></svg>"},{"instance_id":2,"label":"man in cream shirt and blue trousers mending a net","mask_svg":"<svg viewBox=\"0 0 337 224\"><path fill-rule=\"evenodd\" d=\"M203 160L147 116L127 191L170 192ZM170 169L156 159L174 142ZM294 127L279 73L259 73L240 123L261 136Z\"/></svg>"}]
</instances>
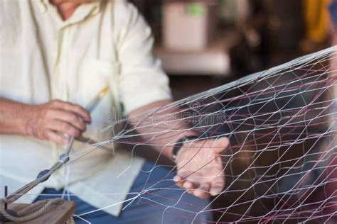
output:
<instances>
[{"instance_id":1,"label":"man in cream shirt and blue trousers mending a net","mask_svg":"<svg viewBox=\"0 0 337 224\"><path fill-rule=\"evenodd\" d=\"M1 186L14 191L50 167L68 144L67 136L95 141L111 138L111 133L101 131L109 125L107 113L123 111L136 116L171 102L168 78L151 53L151 30L132 4L122 0L2 0L0 5ZM105 86L109 93L90 114L85 106ZM175 125L186 124L175 121L170 125L174 130ZM156 147L176 162L175 177L125 150L117 149L113 155L97 149L73 159L68 169L55 173L24 199L31 203L46 194L60 196L66 188L77 203L76 214L83 219L79 222L210 221L205 198L223 189L218 154L228 139L188 141L198 137L191 130L166 135L153 138L153 145L185 142ZM75 141L74 157L84 147ZM181 189L144 194L122 211L126 206L122 201L146 183L164 177L165 183L159 181L154 188L171 186L174 179ZM90 213L97 208L104 209Z\"/></svg>"}]
</instances>

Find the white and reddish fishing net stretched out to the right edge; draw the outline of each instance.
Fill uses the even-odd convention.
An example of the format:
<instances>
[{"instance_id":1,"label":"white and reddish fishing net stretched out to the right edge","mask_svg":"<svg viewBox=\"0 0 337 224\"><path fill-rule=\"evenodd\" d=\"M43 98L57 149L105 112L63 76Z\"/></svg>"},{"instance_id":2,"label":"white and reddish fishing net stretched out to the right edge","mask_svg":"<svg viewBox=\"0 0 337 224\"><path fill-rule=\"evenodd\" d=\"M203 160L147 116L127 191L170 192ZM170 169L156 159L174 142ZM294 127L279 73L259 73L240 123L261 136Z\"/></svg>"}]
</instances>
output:
<instances>
[{"instance_id":1,"label":"white and reddish fishing net stretched out to the right edge","mask_svg":"<svg viewBox=\"0 0 337 224\"><path fill-rule=\"evenodd\" d=\"M224 223L331 220L336 217L337 206L334 92L337 72L332 63L336 50L336 46L330 47L146 111L139 114L139 123L132 127L127 125L128 119L112 121L110 128L120 124L124 128L105 142L73 152L70 157L75 159L60 164L60 167L70 166L112 142L136 145L134 150L141 145L154 146L151 143L154 138L186 131L183 127L169 128L171 122L181 120L191 123L189 130L200 133L198 140L224 136L230 139L230 146L220 155L225 188L209 203L213 205L220 201L222 206L189 211L195 214L191 223L198 220L198 214L209 211L217 215L215 222ZM177 112L173 108L181 109ZM177 118L177 113L183 116ZM167 125L167 130L159 128L162 125ZM137 133L141 128L148 128L149 132ZM167 145L156 146L164 148ZM176 166L170 168L173 172ZM146 182L139 192L130 193L135 195L131 200L121 203L134 203L136 198L141 198L153 206L175 207L147 197L155 196L157 191L175 190L173 184L156 188L156 184L164 179ZM318 192L323 193L315 198ZM5 200L15 201L22 194L17 191ZM184 209L188 211L188 206Z\"/></svg>"}]
</instances>

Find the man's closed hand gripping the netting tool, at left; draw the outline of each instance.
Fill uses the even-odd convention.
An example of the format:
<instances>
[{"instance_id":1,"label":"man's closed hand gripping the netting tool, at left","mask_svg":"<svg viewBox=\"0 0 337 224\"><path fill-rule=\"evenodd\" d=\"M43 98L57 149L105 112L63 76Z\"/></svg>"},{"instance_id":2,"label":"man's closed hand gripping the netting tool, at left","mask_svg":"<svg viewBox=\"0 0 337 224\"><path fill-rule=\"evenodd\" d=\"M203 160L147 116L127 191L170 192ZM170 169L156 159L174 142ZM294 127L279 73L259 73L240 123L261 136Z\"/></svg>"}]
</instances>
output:
<instances>
[{"instance_id":1,"label":"man's closed hand gripping the netting tool, at left","mask_svg":"<svg viewBox=\"0 0 337 224\"><path fill-rule=\"evenodd\" d=\"M27 109L26 134L59 144L68 143L63 134L79 138L91 122L89 113L73 103L54 100Z\"/></svg>"}]
</instances>

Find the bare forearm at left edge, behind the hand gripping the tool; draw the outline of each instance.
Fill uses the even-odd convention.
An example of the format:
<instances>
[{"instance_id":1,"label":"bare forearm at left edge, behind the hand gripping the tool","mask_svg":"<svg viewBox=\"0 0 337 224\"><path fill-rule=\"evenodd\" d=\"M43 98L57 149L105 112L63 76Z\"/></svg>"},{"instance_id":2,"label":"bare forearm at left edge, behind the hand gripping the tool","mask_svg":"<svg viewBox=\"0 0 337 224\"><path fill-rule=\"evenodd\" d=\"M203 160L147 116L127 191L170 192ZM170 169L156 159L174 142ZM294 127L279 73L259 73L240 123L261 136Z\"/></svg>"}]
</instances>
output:
<instances>
[{"instance_id":1,"label":"bare forearm at left edge, behind the hand gripping the tool","mask_svg":"<svg viewBox=\"0 0 337 224\"><path fill-rule=\"evenodd\" d=\"M0 98L0 133L26 135L29 105Z\"/></svg>"}]
</instances>

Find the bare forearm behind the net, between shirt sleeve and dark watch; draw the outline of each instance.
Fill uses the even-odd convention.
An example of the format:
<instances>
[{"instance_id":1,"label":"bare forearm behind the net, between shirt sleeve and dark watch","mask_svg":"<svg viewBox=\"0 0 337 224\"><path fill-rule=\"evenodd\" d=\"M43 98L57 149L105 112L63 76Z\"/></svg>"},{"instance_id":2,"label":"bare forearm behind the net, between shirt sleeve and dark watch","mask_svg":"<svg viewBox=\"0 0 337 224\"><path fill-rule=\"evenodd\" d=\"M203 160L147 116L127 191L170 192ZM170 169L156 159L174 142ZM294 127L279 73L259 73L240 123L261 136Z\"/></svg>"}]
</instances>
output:
<instances>
[{"instance_id":1,"label":"bare forearm behind the net, between shirt sleeve and dark watch","mask_svg":"<svg viewBox=\"0 0 337 224\"><path fill-rule=\"evenodd\" d=\"M157 101L137 108L137 110L129 114L129 121L145 141L151 141L151 145L154 146L156 151L171 158L175 142L183 138L183 136L198 134L191 130L191 125L182 121L179 108L146 113L146 111L160 108L169 103L171 103L169 100ZM149 117L144 118L144 116Z\"/></svg>"}]
</instances>

